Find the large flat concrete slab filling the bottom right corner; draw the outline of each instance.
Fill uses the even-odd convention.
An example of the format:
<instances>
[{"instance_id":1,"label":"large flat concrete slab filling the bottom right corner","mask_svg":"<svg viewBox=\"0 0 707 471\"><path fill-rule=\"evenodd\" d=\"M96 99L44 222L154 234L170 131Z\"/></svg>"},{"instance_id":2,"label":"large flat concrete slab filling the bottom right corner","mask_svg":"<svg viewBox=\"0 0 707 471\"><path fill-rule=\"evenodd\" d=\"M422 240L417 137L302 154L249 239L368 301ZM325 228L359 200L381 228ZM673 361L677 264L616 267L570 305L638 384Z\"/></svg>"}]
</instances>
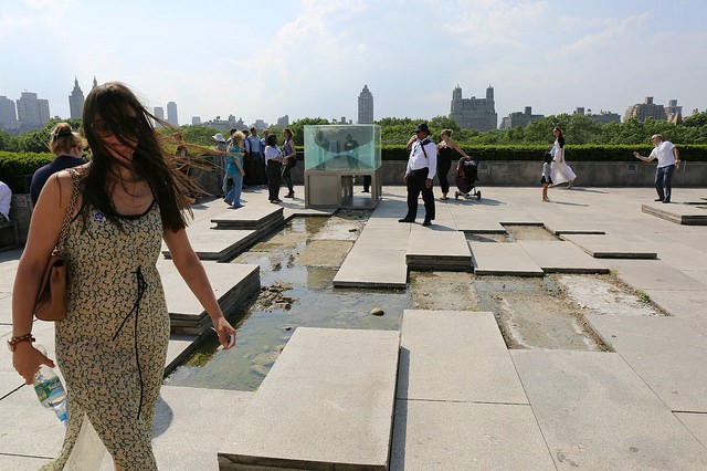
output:
<instances>
[{"instance_id":1,"label":"large flat concrete slab filling the bottom right corner","mask_svg":"<svg viewBox=\"0 0 707 471\"><path fill-rule=\"evenodd\" d=\"M707 449L620 355L511 350L510 356L556 467L707 467Z\"/></svg>"}]
</instances>

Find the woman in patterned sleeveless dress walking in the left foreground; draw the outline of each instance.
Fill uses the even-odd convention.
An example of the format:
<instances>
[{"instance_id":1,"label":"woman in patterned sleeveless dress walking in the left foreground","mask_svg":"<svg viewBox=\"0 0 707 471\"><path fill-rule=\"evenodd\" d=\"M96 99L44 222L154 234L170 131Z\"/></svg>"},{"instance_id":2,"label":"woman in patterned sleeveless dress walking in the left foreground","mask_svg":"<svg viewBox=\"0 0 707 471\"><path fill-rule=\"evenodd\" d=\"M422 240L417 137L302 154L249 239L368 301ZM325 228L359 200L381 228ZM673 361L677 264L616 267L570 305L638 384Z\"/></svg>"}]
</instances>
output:
<instances>
[{"instance_id":1,"label":"woman in patterned sleeveless dress walking in the left foreground","mask_svg":"<svg viewBox=\"0 0 707 471\"><path fill-rule=\"evenodd\" d=\"M152 422L170 332L156 268L162 240L221 344L230 348L235 341L187 238L189 181L152 119L158 121L120 83L92 90L83 113L92 159L50 177L32 214L12 292L10 342L13 365L27 384L40 365L54 366L32 345L32 313L43 269L66 223L67 312L56 322L55 342L68 428L51 469L76 464L77 440L96 435L116 469L157 469ZM67 214L74 195L76 209Z\"/></svg>"}]
</instances>

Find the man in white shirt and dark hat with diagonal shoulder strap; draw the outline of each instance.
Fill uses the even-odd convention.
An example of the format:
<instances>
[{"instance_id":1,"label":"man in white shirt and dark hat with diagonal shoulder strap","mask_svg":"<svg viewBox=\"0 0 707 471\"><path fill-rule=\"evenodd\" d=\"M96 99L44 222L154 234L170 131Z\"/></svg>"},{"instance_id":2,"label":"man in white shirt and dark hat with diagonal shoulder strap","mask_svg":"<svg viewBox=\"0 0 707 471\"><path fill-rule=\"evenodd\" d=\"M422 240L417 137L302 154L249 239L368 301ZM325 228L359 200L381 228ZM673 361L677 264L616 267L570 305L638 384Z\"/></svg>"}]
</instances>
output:
<instances>
[{"instance_id":1,"label":"man in white shirt and dark hat with diagonal shoulder strap","mask_svg":"<svg viewBox=\"0 0 707 471\"><path fill-rule=\"evenodd\" d=\"M432 179L437 169L437 146L430 140L430 128L421 123L415 128L415 139L408 143L410 158L402 181L408 186L408 214L398 222L414 222L418 217L418 198L422 192L424 222L430 226L434 219L434 195Z\"/></svg>"}]
</instances>

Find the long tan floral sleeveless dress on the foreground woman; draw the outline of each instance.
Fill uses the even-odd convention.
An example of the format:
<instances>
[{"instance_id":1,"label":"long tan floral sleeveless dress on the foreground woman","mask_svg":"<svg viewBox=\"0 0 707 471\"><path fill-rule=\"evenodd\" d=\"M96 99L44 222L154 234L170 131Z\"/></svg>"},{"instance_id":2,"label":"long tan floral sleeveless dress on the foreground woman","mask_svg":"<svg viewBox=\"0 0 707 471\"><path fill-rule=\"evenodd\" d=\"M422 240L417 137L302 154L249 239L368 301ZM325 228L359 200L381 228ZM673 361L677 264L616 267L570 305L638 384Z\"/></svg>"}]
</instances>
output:
<instances>
[{"instance_id":1,"label":"long tan floral sleeveless dress on the foreground woman","mask_svg":"<svg viewBox=\"0 0 707 471\"><path fill-rule=\"evenodd\" d=\"M68 428L46 469L64 468L85 420L116 464L157 469L152 422L170 329L156 268L159 206L120 221L123 229L91 210L86 230L75 218L64 242L70 286L66 318L56 323L56 358L66 379Z\"/></svg>"}]
</instances>

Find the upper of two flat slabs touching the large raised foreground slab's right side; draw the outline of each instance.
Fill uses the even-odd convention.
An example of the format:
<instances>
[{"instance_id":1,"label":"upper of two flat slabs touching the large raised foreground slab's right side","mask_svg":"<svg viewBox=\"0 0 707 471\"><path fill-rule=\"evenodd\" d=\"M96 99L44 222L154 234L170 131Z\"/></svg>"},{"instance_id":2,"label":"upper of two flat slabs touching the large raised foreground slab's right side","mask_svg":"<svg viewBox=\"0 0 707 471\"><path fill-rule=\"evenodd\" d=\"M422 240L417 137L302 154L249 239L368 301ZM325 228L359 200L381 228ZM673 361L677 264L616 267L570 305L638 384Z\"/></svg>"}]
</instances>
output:
<instances>
[{"instance_id":1,"label":"upper of two flat slabs touching the large raised foreground slab's right side","mask_svg":"<svg viewBox=\"0 0 707 471\"><path fill-rule=\"evenodd\" d=\"M399 399L528 404L493 313L405 310L400 346Z\"/></svg>"}]
</instances>

